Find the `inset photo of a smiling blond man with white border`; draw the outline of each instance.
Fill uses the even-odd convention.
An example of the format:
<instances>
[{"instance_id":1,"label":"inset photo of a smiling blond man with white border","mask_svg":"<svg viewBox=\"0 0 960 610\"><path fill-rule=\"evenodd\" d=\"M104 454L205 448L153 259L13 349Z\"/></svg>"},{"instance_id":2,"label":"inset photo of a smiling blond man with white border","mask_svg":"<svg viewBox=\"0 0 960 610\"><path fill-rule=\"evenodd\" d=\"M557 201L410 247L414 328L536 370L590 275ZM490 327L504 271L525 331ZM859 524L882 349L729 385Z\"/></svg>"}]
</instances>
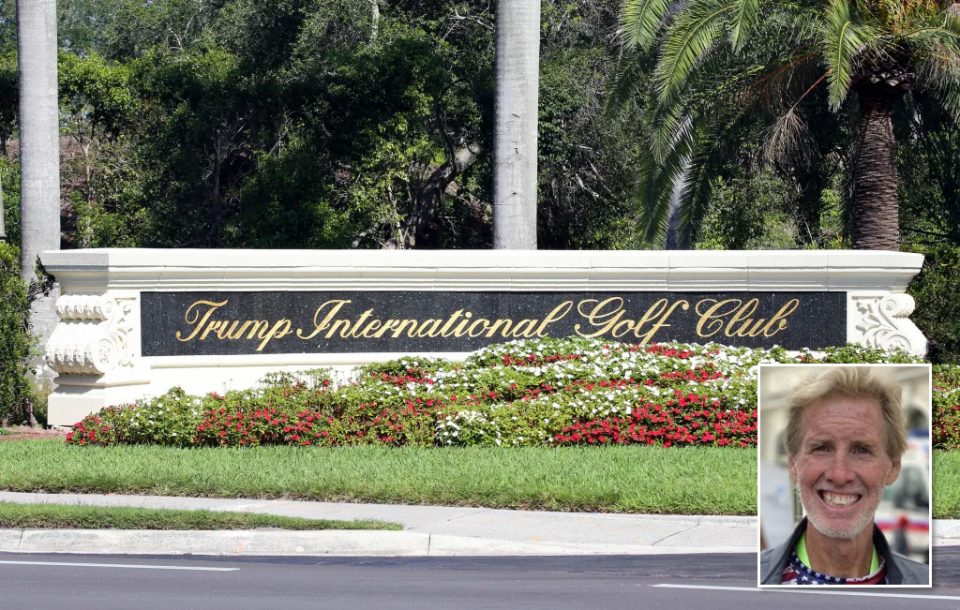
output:
<instances>
[{"instance_id":1,"label":"inset photo of a smiling blond man with white border","mask_svg":"<svg viewBox=\"0 0 960 610\"><path fill-rule=\"evenodd\" d=\"M761 365L758 584L930 587L930 365Z\"/></svg>"}]
</instances>

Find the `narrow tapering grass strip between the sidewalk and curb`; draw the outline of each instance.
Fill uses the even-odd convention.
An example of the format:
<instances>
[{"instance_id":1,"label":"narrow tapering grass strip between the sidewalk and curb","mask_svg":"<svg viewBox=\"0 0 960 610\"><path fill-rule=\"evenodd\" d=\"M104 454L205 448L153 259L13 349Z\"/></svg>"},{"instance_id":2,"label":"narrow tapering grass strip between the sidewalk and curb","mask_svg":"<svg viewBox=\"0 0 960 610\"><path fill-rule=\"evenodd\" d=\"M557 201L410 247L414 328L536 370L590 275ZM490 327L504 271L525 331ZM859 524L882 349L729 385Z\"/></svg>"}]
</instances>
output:
<instances>
[{"instance_id":1,"label":"narrow tapering grass strip between the sidewalk and curb","mask_svg":"<svg viewBox=\"0 0 960 610\"><path fill-rule=\"evenodd\" d=\"M399 530L399 523L302 519L277 515L0 502L0 528L237 530Z\"/></svg>"}]
</instances>

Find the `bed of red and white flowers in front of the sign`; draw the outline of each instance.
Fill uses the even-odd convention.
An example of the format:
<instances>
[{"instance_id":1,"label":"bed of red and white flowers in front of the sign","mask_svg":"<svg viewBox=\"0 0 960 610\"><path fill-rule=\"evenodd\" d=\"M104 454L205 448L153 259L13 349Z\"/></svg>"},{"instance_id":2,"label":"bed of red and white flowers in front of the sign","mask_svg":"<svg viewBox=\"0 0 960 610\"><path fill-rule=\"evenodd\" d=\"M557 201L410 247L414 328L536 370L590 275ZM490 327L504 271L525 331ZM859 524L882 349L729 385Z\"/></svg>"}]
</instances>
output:
<instances>
[{"instance_id":1,"label":"bed of red and white flowers in front of the sign","mask_svg":"<svg viewBox=\"0 0 960 610\"><path fill-rule=\"evenodd\" d=\"M514 341L464 362L410 358L363 367L334 387L323 371L273 375L255 390L164 396L76 424L77 445L755 446L764 362L910 362L857 347L790 355L720 345ZM960 385L960 384L958 384ZM957 392L953 396L956 405ZM949 402L949 400L948 400ZM938 403L939 404L939 403ZM960 409L944 439L960 439ZM953 443L951 445L951 443Z\"/></svg>"}]
</instances>

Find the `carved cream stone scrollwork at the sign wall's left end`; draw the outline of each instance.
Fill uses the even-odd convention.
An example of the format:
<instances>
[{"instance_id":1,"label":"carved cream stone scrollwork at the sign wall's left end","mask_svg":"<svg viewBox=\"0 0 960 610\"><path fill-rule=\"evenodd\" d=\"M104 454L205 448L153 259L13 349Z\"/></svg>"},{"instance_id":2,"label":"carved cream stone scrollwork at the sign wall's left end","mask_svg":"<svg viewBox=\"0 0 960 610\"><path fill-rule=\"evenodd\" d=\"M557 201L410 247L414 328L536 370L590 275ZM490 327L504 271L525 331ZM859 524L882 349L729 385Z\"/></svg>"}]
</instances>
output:
<instances>
[{"instance_id":1,"label":"carved cream stone scrollwork at the sign wall's left end","mask_svg":"<svg viewBox=\"0 0 960 610\"><path fill-rule=\"evenodd\" d=\"M58 373L102 375L134 361L132 300L100 295L64 295L60 323L47 343L47 364Z\"/></svg>"}]
</instances>

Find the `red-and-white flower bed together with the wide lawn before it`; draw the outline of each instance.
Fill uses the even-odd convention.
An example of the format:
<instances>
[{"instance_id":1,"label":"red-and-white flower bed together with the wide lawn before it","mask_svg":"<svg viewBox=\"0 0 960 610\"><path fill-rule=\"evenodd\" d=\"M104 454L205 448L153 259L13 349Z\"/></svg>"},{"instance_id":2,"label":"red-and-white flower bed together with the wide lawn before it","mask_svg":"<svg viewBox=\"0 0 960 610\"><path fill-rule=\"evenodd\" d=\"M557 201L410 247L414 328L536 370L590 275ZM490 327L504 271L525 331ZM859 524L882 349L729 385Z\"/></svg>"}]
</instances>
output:
<instances>
[{"instance_id":1,"label":"red-and-white flower bed together with the wide lawn before it","mask_svg":"<svg viewBox=\"0 0 960 610\"><path fill-rule=\"evenodd\" d=\"M578 339L369 365L339 387L277 374L107 408L66 443L0 443L0 487L750 515L757 366L881 361L916 359ZM957 369L934 376L934 443L960 447ZM958 455L934 454L936 517L960 516Z\"/></svg>"}]
</instances>

